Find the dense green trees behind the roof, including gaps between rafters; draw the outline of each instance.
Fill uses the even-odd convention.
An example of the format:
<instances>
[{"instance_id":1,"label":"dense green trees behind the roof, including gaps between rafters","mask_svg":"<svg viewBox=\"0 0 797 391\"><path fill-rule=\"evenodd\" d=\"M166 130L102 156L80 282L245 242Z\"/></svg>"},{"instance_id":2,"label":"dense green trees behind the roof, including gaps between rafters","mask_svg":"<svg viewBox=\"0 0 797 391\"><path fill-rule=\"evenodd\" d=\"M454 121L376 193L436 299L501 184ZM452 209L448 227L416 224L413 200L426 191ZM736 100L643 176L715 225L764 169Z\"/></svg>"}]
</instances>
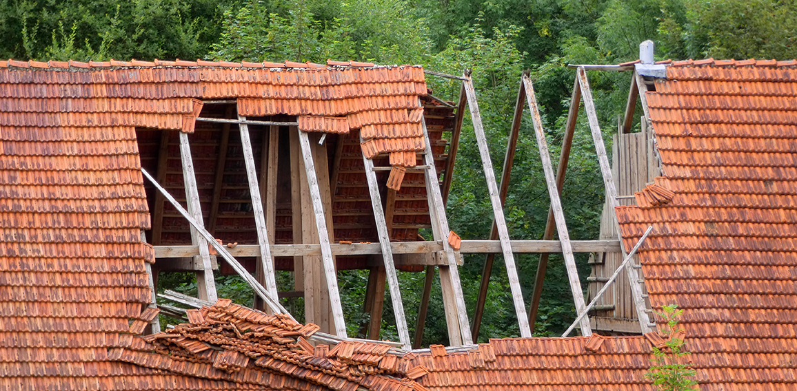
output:
<instances>
[{"instance_id":1,"label":"dense green trees behind the roof, including gaps between rafters","mask_svg":"<svg viewBox=\"0 0 797 391\"><path fill-rule=\"evenodd\" d=\"M500 170L520 73L535 82L553 158L558 158L574 72L563 65L634 60L638 44L652 39L658 58L797 57L797 5L780 0L3 0L0 57L39 60L197 57L227 61L375 61L421 64L439 72L473 69L479 104ZM627 96L628 75L591 74L606 139ZM436 96L456 99L459 86L430 77ZM512 186L505 205L510 233L540 238L548 194L527 120L521 129ZM465 121L468 123L468 121ZM489 199L472 131L466 126L448 204L450 225L462 237L489 233ZM500 172L497 174L500 175ZM580 119L563 206L573 239L595 239L603 186L585 119ZM483 256L462 268L466 303L473 309ZM536 256L519 256L520 280L530 295ZM480 340L518 334L501 260ZM589 274L579 258L580 275ZM422 274L402 273L409 323L418 311ZM563 263L552 257L536 334L563 330L575 317ZM287 285L289 276L281 276ZM352 334L362 314L362 272L340 275ZM237 277L220 277L222 295L241 302L251 292ZM162 287L195 288L190 276L163 278ZM583 281L586 287L586 280ZM446 342L439 286L433 289L426 343ZM395 336L391 301L383 330ZM289 303L300 312L294 300Z\"/></svg>"}]
</instances>

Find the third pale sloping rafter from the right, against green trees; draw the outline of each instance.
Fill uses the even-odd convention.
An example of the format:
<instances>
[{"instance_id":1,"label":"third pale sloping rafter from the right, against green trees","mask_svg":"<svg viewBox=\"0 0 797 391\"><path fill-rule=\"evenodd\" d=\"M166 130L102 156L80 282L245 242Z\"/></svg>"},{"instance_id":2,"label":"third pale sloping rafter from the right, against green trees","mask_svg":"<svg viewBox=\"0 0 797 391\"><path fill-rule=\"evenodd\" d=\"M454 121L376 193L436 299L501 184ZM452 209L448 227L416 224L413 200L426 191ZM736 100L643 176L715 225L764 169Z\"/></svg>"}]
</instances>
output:
<instances>
[{"instance_id":1,"label":"third pale sloping rafter from the right, against green trees","mask_svg":"<svg viewBox=\"0 0 797 391\"><path fill-rule=\"evenodd\" d=\"M509 231L506 228L506 221L504 218L504 205L499 197L495 171L493 171L493 162L490 160L489 147L487 146L487 137L485 135L485 129L481 124L481 114L479 112L479 104L476 100L476 91L473 88L473 82L471 80L465 80L462 84L465 86L465 95L468 96L470 117L473 120L473 133L476 135L476 143L479 147L479 155L481 156L481 166L485 171L485 181L487 182L490 203L493 205L493 221L495 221L497 225L498 237L501 240L501 248L504 250L504 264L509 280L509 290L512 291L512 302L515 303L515 314L517 315L517 323L520 326L520 336L528 338L532 336L532 329L528 326L526 303L523 300L523 291L520 291L520 279L517 276L515 256L512 254L512 244L509 244Z\"/></svg>"}]
</instances>

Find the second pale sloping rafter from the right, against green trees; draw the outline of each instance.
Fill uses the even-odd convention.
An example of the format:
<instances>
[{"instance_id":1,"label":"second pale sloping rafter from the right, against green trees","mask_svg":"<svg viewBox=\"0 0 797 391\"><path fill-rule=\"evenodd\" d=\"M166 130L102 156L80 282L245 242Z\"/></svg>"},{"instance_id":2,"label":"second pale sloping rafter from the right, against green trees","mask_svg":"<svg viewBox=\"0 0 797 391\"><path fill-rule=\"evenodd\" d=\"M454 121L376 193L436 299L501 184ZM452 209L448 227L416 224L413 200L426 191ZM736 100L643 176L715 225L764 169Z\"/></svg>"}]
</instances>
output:
<instances>
[{"instance_id":1,"label":"second pale sloping rafter from the right, against green trees","mask_svg":"<svg viewBox=\"0 0 797 391\"><path fill-rule=\"evenodd\" d=\"M548 142L545 139L543 121L537 106L534 86L532 86L532 80L529 80L527 75L523 76L523 84L526 88L528 108L531 109L532 112L534 135L536 135L537 147L540 150L540 161L543 166L545 182L548 184L548 196L551 198L551 209L553 209L554 221L556 222L556 233L559 234L559 242L562 244L564 266L567 270L567 280L570 281L570 290L573 294L573 301L575 302L575 311L579 314L582 312L586 313L587 309L584 306L584 296L581 290L581 280L579 280L579 270L575 264L575 257L573 256L573 249L570 244L570 233L567 232L567 224L564 221L562 201L559 200L559 186L556 186L556 178L554 178L553 166L551 163L551 153L548 151ZM585 336L592 334L589 319L583 319L581 323L581 334Z\"/></svg>"}]
</instances>

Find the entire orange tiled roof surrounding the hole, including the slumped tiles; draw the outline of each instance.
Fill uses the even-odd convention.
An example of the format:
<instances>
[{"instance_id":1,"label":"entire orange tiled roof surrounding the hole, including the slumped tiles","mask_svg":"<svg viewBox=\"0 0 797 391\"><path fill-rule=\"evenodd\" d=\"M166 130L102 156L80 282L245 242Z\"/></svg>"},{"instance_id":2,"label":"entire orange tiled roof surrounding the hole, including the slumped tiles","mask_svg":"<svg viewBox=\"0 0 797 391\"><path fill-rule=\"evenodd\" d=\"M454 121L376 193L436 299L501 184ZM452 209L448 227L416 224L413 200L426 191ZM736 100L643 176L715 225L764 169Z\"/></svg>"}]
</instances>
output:
<instances>
[{"instance_id":1,"label":"entire orange tiled roof surrounding the hole, including the slumped tiles","mask_svg":"<svg viewBox=\"0 0 797 391\"><path fill-rule=\"evenodd\" d=\"M654 226L639 252L650 301L685 310L686 348L704 390L797 383L794 64L674 62L647 94L663 177L637 194L638 206L620 207L618 220L627 247ZM312 325L223 299L174 330L134 335L154 316L142 313L154 256L141 241L149 218L135 127L190 131L194 99L236 98L246 115L298 115L308 131L362 127L366 154L417 151L422 70L0 65L0 389L649 384L650 336L510 338L420 354L359 342L327 350L304 340Z\"/></svg>"}]
</instances>

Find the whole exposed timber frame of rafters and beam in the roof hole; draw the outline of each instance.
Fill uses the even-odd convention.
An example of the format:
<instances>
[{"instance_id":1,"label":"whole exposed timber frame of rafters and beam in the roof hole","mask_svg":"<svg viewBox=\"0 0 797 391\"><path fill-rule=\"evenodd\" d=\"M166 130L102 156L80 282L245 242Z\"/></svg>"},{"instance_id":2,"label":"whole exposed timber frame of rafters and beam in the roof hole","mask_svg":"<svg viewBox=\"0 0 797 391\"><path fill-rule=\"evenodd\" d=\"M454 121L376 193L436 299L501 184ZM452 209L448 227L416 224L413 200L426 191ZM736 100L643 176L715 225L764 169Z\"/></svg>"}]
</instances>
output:
<instances>
[{"instance_id":1,"label":"whole exposed timber frame of rafters and beam in the roof hole","mask_svg":"<svg viewBox=\"0 0 797 391\"><path fill-rule=\"evenodd\" d=\"M290 117L247 119L236 114L234 100L206 101L206 108L209 108L209 112L205 114L203 111L203 115L198 116L195 120L208 127L215 127L219 134L218 152L210 161L210 165L214 167L213 180L210 186L205 186L211 190L208 193L210 196L202 197L202 186L198 185L198 174L194 170L194 159L205 157L198 157L198 152L192 151L190 137L186 133L179 132L178 138L183 189L177 191L180 194L185 194L183 200L170 193L170 191L175 191L174 186L171 187L171 190L167 189L167 185L174 182L174 179L170 179L173 174L169 171L169 167L175 166L168 162L170 145L175 143L175 137L170 135L169 131L161 131L157 136L159 143L155 149L156 154L153 155L157 156L154 159L156 164L150 164L151 167L156 167L155 175L151 176L142 168L145 177L151 182L151 186L157 190L151 194L151 210L153 210L154 218L148 237L150 243L154 244L155 258L159 260L159 263L155 264L155 270L147 271L152 277L151 287L153 289L157 287L159 271L195 272L198 282L198 299L194 300L199 300L198 302L181 299L175 292L163 297L183 304L187 300L190 302L188 305L192 306L196 303L199 305L214 303L217 299L214 269L218 270L216 273L224 272L224 268L219 268L220 264L223 264L226 265L225 268L231 267L253 287L256 294L254 307L270 312L287 313L285 307L279 302L280 298L304 297L304 321L321 326L322 331L326 332L326 334L322 333L327 336L325 338L345 339L348 338L347 326L344 323L344 311L340 302L337 272L344 265L341 264L342 260L354 259L357 260L354 267L344 266L344 268L364 268L370 271L367 297L363 303L363 309L370 314L371 321L362 326L360 330L367 338L379 339L384 295L386 291L390 291L399 339L395 346L410 350L411 348L417 349L422 343L423 326L428 311L435 269L437 269L450 345L468 346L476 342L479 335L495 254L501 254L506 264L512 302L520 326L520 334L523 337L532 336L550 253L562 253L564 256L575 308L579 314L579 319L576 322L578 324L574 323L571 329L578 326L583 335L591 334L595 325L595 322L591 322L591 319L586 316L587 312L600 307L596 305L599 296L607 290L609 283L614 281L620 269L618 268L612 279L605 284L606 286L603 287L603 291L598 297L593 298L587 306L576 270L574 253L619 254L625 258L622 268L626 271L626 280L630 283L634 295L634 305L637 308L637 319L640 326L636 331L646 332L652 326L647 315L650 308L646 306L636 266L630 261L633 252L630 252L630 255L626 254L621 237L603 240L571 240L559 199L564 175L567 171L576 117L579 114L578 103L581 100L583 100L591 135L595 142L606 187L608 207L614 208L618 205L620 198L614 186L612 168L595 115L595 105L592 102L587 80L587 69L590 68L595 67L584 65L576 68L572 92L572 102L575 104L571 104L568 113L561 148L562 154L559 156L556 172L545 140L532 81L528 78L528 73L522 75L500 183L497 182L497 178L493 174L493 163L490 161L489 146L481 123L476 91L473 88L469 72L465 72L462 76L450 76L426 71L432 76L461 80L461 92L458 104L449 103L434 96L422 100L422 106L426 108L426 115L422 121L426 150L417 154L418 164L416 166L406 167L406 175L410 180L403 185L410 189L425 190L425 193L422 190L413 190L412 194L422 194L421 197L386 188L386 174L387 170L390 170L390 167L385 166L386 158L383 156L364 157L359 152L359 141L361 141L359 135L333 135L327 138L326 135L308 134L300 131L296 126L296 120ZM634 68L622 65L601 69L624 71ZM629 132L633 126L637 96L642 100L642 107L645 109L645 117L643 117L643 122L645 122L647 118L645 91L646 81L634 71L626 115L620 121L619 129L622 132ZM485 173L485 183L493 206L494 220L489 240L466 239L458 242L455 239L458 237L454 236L448 226L446 201L453 178L454 160L461 127L465 120L465 105L467 105L473 122L475 140ZM551 207L542 240L511 240L503 205L508 193L512 162L520 134L520 123L527 105L532 114L532 125L539 147ZM438 112L449 114L440 116ZM199 127L199 125L197 126ZM450 131L449 142L442 139L441 129L446 126L448 128L445 130ZM235 136L236 132L232 131L234 127L238 127L237 137ZM256 129L252 130L252 127ZM431 136L433 133L434 137ZM199 139L198 143L202 144L203 141L203 139ZM240 154L240 158L232 156L236 152ZM236 162L242 161L240 166L241 173L245 174L245 182L241 182L241 186L230 186L224 182L228 178L226 170L230 166L230 159L233 158ZM351 163L356 159L359 159L361 163ZM351 182L347 182L346 175L351 174L362 175L363 186L367 188L365 197L346 195L341 198L340 194L351 193L346 191L352 186ZM410 177L411 175L414 177ZM285 189L289 191L281 192ZM228 239L226 244L222 244L222 240L216 239L218 235L225 232L225 228L220 224L220 221L225 218L224 216L237 218L234 213L222 210L224 202L230 201L230 194L225 195L225 192L229 193L230 190L235 190L232 192L234 194L241 194L237 190L248 192L249 199L235 201L241 202L241 205L251 205L254 235L249 242L238 244L238 242ZM180 205L180 201L186 202L185 209ZM370 203L371 210L340 211L342 203L363 201ZM426 205L422 209L399 207L399 204L402 202L406 204L406 201L425 201ZM171 205L171 207L167 207L167 205ZM170 210L176 210L179 215L175 215ZM425 223L402 221L400 217L406 216L407 213L426 216L428 220ZM614 215L614 213L610 214ZM167 243L167 240L164 240L170 232L165 221L167 218L176 216L183 217L189 222L185 228L190 231L190 244L185 242ZM374 242L355 243L336 237L336 232L351 229L351 225L341 223L344 220L343 217L347 216L371 217ZM287 229L283 228L285 217L291 217L288 220ZM616 224L615 218L614 225ZM410 234L410 239L397 237L400 235L398 231L410 230L411 232L414 229L417 232L419 228L430 228L433 240L423 240L418 238L417 234L415 234L416 237ZM558 235L558 240L553 240L554 233ZM289 243L285 243L285 235L289 238ZM470 323L465 307L465 296L459 281L458 266L462 264L462 254L476 253L484 253L487 258L473 323ZM526 303L520 289L514 253L540 254L534 290L530 293L530 303ZM223 262L218 260L219 257L223 259ZM241 260L239 261L238 258ZM247 267L245 260L249 259L254 261ZM279 291L277 284L279 270L293 272L292 291ZM414 338L411 339L410 329L407 326L409 319L406 319L401 290L398 285L398 270L426 272L418 318L415 319ZM254 276L251 272L254 272ZM527 304L530 304L528 310ZM152 305L156 305L155 295L153 295ZM159 307L165 314L182 316L179 308L166 304ZM155 327L155 323L153 323L153 330ZM570 331L567 330L567 333Z\"/></svg>"}]
</instances>

